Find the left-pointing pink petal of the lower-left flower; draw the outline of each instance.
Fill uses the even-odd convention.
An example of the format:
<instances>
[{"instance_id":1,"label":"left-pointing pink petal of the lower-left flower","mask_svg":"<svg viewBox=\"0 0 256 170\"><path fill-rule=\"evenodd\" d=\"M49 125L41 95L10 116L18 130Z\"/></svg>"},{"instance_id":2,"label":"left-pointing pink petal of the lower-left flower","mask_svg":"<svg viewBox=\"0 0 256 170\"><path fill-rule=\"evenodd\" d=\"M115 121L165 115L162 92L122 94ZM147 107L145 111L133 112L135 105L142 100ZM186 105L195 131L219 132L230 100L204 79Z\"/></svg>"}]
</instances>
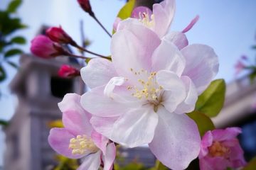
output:
<instances>
[{"instance_id":1,"label":"left-pointing pink petal of the lower-left flower","mask_svg":"<svg viewBox=\"0 0 256 170\"><path fill-rule=\"evenodd\" d=\"M65 157L71 159L79 159L84 157L85 154L72 154L72 150L69 149L70 139L75 137L65 128L52 128L50 130L50 135L48 136L48 143L55 152L62 154Z\"/></svg>"}]
</instances>

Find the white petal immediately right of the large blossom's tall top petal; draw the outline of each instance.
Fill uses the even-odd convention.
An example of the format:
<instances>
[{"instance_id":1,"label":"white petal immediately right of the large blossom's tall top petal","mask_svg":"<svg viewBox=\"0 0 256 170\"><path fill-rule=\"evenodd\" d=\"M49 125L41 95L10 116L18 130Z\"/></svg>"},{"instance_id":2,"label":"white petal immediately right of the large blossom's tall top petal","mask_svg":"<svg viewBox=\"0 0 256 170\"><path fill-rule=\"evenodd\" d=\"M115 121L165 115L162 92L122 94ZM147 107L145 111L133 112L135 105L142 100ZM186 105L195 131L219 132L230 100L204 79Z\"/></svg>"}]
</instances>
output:
<instances>
[{"instance_id":1,"label":"white petal immediately right of the large blossom's tall top petal","mask_svg":"<svg viewBox=\"0 0 256 170\"><path fill-rule=\"evenodd\" d=\"M181 52L168 38L164 38L161 41L161 45L156 48L152 56L152 70L154 72L167 69L181 76L185 64L185 59Z\"/></svg>"}]
</instances>

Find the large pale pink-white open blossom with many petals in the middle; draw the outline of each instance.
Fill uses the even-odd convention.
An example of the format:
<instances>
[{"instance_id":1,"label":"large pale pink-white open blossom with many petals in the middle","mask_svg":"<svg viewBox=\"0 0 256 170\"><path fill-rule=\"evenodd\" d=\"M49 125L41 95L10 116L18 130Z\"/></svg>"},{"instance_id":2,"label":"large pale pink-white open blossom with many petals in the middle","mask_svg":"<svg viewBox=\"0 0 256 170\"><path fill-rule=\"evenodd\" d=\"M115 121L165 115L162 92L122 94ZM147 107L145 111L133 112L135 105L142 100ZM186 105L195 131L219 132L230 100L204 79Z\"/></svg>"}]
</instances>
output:
<instances>
[{"instance_id":1,"label":"large pale pink-white open blossom with many petals in the middle","mask_svg":"<svg viewBox=\"0 0 256 170\"><path fill-rule=\"evenodd\" d=\"M218 72L218 57L207 45L178 50L174 42L142 25L119 29L112 62L92 59L81 69L92 89L81 103L97 132L128 147L149 144L163 164L186 169L198 157L201 138L185 113Z\"/></svg>"}]
</instances>

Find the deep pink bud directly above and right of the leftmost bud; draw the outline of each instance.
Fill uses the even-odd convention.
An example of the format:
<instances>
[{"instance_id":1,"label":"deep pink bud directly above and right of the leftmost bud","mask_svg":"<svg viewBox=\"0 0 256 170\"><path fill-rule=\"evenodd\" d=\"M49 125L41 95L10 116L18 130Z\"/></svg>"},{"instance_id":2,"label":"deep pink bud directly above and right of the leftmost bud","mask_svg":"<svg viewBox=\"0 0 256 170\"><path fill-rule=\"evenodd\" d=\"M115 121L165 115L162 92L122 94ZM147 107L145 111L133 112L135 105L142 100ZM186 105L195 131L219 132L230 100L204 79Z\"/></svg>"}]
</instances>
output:
<instances>
[{"instance_id":1,"label":"deep pink bud directly above and right of the leftmost bud","mask_svg":"<svg viewBox=\"0 0 256 170\"><path fill-rule=\"evenodd\" d=\"M73 44L74 43L74 41L70 37L70 35L65 33L65 31L61 27L49 28L48 30L46 30L46 35L48 36L48 38L50 38L50 40L53 40L54 42L64 43L64 44Z\"/></svg>"}]
</instances>

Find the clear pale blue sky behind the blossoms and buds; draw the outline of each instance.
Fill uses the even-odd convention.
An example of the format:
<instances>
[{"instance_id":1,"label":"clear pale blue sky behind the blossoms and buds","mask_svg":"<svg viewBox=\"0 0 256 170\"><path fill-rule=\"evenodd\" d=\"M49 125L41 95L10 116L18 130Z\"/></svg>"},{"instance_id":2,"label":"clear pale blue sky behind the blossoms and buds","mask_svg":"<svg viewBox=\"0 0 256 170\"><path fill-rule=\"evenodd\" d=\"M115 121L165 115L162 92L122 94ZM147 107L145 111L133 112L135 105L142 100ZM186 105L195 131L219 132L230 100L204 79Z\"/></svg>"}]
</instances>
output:
<instances>
[{"instance_id":1,"label":"clear pale blue sky behind the blossoms and buds","mask_svg":"<svg viewBox=\"0 0 256 170\"><path fill-rule=\"evenodd\" d=\"M1 0L0 8L5 8L9 0ZM108 30L112 30L119 8L124 0L93 0L92 8L97 18ZM219 56L220 71L217 78L232 81L234 64L240 55L255 57L250 46L255 43L256 33L256 1L255 0L177 0L176 16L171 30L182 30L196 15L201 18L187 33L190 43L203 43L215 49ZM29 28L21 32L28 42L36 35L42 24L47 26L63 26L72 37L80 42L79 22L85 23L85 34L92 40L90 50L103 55L110 53L110 38L97 26L87 13L84 13L75 0L23 0L18 10L23 23ZM29 52L29 43L24 47ZM10 96L6 88L14 77L14 69L9 69L9 79L0 84L4 93L0 100L0 118L9 119L17 105L16 98ZM0 134L0 165L2 164L3 140Z\"/></svg>"}]
</instances>

